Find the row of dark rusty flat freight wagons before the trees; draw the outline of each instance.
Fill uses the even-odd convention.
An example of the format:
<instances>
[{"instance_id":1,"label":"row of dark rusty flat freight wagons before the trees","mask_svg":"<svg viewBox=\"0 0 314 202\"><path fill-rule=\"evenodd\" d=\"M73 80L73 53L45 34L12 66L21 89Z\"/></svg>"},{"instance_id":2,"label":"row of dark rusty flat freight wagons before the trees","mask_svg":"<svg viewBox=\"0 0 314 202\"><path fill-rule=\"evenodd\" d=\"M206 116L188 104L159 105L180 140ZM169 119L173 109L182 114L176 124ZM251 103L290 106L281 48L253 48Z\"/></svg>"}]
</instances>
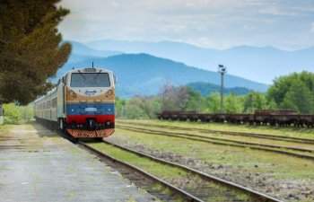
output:
<instances>
[{"instance_id":1,"label":"row of dark rusty flat freight wagons before the trees","mask_svg":"<svg viewBox=\"0 0 314 202\"><path fill-rule=\"evenodd\" d=\"M314 127L314 114L299 114L295 110L255 110L252 114L164 110L161 113L157 113L157 118L278 127Z\"/></svg>"}]
</instances>

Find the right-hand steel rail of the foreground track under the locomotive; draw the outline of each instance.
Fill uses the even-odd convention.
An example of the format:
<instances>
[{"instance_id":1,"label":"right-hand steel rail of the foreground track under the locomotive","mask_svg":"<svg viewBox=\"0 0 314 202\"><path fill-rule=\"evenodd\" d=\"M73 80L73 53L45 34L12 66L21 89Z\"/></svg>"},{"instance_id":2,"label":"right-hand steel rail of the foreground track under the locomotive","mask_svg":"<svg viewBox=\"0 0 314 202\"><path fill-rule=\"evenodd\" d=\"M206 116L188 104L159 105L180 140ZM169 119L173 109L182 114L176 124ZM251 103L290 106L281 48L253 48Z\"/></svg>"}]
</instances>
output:
<instances>
[{"instance_id":1,"label":"right-hand steel rail of the foreground track under the locomotive","mask_svg":"<svg viewBox=\"0 0 314 202\"><path fill-rule=\"evenodd\" d=\"M177 162L169 162L167 160L163 160L161 158L154 157L153 155L150 155L150 154L144 154L142 152L135 151L133 149L127 148L127 147L122 146L122 145L117 145L117 144L114 144L114 143L110 143L110 142L108 142L106 140L103 140L103 142L106 143L106 144L109 144L109 145L116 146L116 147L118 147L118 148L120 148L122 150L125 150L127 152L130 152L132 154L136 154L136 155L140 155L140 156L149 158L149 159L151 159L151 160L153 160L155 162L162 162L162 163L168 164L170 166L179 167L180 169L183 169L185 171L190 171L191 173L194 173L194 174L200 176L204 180L213 180L213 181L215 181L217 183L222 184L223 186L227 186L227 187L229 187L231 189L237 189L237 190L239 190L241 192L245 192L246 194L249 194L249 196L251 196L253 198L256 198L256 199L258 198L258 201L276 201L276 202L281 201L281 200L279 200L277 198L273 198L273 197L267 196L266 194L260 193L260 192L258 192L256 190L243 187L243 186L241 186L239 184L236 184L236 183L228 181L228 180L222 180L222 179L220 179L218 177L215 177L214 175L205 173L203 171L197 171L196 169L189 168L188 166L179 164Z\"/></svg>"}]
</instances>

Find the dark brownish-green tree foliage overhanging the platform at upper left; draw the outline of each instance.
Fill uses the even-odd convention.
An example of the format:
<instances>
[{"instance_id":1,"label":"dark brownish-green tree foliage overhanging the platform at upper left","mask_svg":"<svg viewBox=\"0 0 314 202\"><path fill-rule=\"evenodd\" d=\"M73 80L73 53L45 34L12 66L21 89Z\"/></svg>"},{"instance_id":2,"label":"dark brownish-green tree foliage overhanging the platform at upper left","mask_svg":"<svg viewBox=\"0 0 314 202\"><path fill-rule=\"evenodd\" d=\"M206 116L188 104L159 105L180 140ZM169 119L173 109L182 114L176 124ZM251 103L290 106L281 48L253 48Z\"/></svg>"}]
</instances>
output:
<instances>
[{"instance_id":1,"label":"dark brownish-green tree foliage overhanging the platform at upper left","mask_svg":"<svg viewBox=\"0 0 314 202\"><path fill-rule=\"evenodd\" d=\"M0 3L0 103L27 104L52 87L71 51L60 45L57 24L69 10L59 0L5 0Z\"/></svg>"}]
</instances>

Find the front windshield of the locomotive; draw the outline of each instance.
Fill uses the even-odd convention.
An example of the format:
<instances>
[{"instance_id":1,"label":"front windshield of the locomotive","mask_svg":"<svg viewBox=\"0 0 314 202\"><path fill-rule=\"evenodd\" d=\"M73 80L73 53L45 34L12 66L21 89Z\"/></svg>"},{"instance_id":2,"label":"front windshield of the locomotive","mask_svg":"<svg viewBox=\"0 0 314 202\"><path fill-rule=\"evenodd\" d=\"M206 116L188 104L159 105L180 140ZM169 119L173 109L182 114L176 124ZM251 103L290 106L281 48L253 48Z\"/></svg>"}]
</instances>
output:
<instances>
[{"instance_id":1,"label":"front windshield of the locomotive","mask_svg":"<svg viewBox=\"0 0 314 202\"><path fill-rule=\"evenodd\" d=\"M108 73L73 73L71 87L110 87Z\"/></svg>"}]
</instances>

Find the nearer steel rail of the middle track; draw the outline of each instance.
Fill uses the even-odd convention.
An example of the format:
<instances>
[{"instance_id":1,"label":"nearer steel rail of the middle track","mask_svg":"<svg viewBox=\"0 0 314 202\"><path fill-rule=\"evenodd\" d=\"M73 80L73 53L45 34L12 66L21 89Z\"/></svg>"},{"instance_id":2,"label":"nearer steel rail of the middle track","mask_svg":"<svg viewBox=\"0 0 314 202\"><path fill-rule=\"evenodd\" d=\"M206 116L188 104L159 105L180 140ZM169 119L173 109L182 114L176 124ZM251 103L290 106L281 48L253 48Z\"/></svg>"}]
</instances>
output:
<instances>
[{"instance_id":1,"label":"nearer steel rail of the middle track","mask_svg":"<svg viewBox=\"0 0 314 202\"><path fill-rule=\"evenodd\" d=\"M147 132L146 131L145 132L145 131L143 131L141 129L138 129L136 127L133 128L133 129L131 127L121 127L121 126L118 126L118 127L126 129L126 130L131 130L131 131L135 131L135 132L148 134L148 135L171 136L171 137L184 138L184 139L189 139L189 140L194 140L194 141L199 141L199 142L210 143L210 144L214 144L214 145L230 145L230 146L237 146L237 147L242 147L242 148L243 147L249 147L249 148L255 149L255 150L266 151L266 152L273 152L273 153L278 153L278 154L286 154L286 155L290 155L290 156L293 156L293 157L304 158L304 159L309 159L311 161L314 161L314 156L311 156L311 155L296 154L296 153L291 153L291 152L282 151L282 150L275 150L275 149L266 148L266 147L258 147L258 146L254 146L254 145L228 144L228 143L216 142L216 141L209 140L209 139L198 139L198 138L190 137L188 135L170 135L170 134L168 134L168 132L160 132L160 131L151 131L151 132ZM153 132L153 134L152 134L152 132ZM226 140L226 141L228 141L228 140Z\"/></svg>"}]
</instances>

